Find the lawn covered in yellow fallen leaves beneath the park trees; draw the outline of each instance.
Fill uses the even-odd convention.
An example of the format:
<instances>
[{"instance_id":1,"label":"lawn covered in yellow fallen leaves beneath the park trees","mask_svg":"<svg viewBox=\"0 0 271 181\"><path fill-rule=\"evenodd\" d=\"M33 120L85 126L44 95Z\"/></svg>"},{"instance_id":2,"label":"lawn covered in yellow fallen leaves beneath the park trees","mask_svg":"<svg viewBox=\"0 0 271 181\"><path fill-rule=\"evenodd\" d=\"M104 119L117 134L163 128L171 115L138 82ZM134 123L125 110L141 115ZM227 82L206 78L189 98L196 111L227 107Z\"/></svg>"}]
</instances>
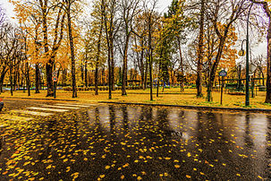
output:
<instances>
[{"instance_id":1,"label":"lawn covered in yellow fallen leaves beneath the park trees","mask_svg":"<svg viewBox=\"0 0 271 181\"><path fill-rule=\"evenodd\" d=\"M185 90L182 94L180 89L172 88L165 89L165 94L159 95L157 98L156 90L154 92L153 101L149 99L149 90L127 90L127 96L121 95L121 90L114 90L113 99L108 99L106 90L99 91L99 95L95 96L94 91L78 91L78 98L82 102L87 101L114 101L114 102L135 102L135 103L153 103L153 104L171 104L171 105L184 105L184 106L207 106L207 107L224 107L224 108L244 108L245 96L243 95L230 95L224 93L223 105L220 105L220 92L213 92L213 101L207 102L206 98L197 98L195 89ZM160 90L161 92L161 90ZM206 92L206 90L204 90ZM52 99L46 98L47 90L41 90L41 93L34 93L31 91L31 96L27 96L27 92L15 91L13 97L16 98L31 98L31 99ZM265 104L265 92L258 92L255 98L250 98L250 108L271 108L271 104ZM206 93L205 93L206 95ZM2 98L10 98L11 94L5 91L0 95ZM72 92L65 90L57 90L56 99L72 99Z\"/></svg>"}]
</instances>

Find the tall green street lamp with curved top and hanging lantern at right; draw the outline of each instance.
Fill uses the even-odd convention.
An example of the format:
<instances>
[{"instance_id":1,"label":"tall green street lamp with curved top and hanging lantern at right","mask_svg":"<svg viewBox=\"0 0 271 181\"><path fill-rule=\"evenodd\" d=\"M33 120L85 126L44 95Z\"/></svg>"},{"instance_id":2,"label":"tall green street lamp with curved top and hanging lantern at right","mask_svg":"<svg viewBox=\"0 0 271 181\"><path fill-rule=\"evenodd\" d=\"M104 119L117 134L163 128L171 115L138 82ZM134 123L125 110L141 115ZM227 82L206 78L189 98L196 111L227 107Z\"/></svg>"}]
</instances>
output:
<instances>
[{"instance_id":1,"label":"tall green street lamp with curved top and hanging lantern at right","mask_svg":"<svg viewBox=\"0 0 271 181\"><path fill-rule=\"evenodd\" d=\"M246 107L250 106L250 73L249 73L249 69L250 69L250 47L249 47L249 43L250 43L250 37L249 37L249 22L250 22L250 11L251 8L253 6L253 3L250 4L250 10L248 13L248 19L247 19L247 39L244 39L241 42L241 51L239 52L239 56L244 56L244 50L242 49L242 44L244 41L246 41Z\"/></svg>"}]
</instances>

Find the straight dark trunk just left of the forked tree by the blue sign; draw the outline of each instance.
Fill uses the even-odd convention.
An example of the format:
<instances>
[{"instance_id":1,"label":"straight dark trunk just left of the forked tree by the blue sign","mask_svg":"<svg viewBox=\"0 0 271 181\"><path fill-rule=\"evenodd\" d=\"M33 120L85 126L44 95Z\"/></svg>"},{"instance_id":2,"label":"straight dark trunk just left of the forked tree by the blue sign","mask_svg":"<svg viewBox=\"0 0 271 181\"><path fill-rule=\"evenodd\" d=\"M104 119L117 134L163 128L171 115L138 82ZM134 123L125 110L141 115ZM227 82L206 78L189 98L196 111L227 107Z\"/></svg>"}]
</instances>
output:
<instances>
[{"instance_id":1,"label":"straight dark trunk just left of the forked tree by the blue sign","mask_svg":"<svg viewBox=\"0 0 271 181\"><path fill-rule=\"evenodd\" d=\"M197 66L197 97L202 97L202 62L203 62L203 39L204 39L204 13L205 0L201 0L200 22L199 22L199 52Z\"/></svg>"}]
</instances>

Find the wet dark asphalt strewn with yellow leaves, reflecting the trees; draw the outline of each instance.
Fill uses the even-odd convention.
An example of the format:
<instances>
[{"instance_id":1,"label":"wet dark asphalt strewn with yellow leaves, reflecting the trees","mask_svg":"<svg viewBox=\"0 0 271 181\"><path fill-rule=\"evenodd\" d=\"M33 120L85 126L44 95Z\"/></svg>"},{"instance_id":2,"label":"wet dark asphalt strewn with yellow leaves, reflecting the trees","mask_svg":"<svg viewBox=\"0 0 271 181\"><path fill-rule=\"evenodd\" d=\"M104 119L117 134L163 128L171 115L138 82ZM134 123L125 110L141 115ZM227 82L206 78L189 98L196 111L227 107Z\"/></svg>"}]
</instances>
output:
<instances>
[{"instance_id":1,"label":"wet dark asphalt strewn with yellow leaves, reflecting the trees","mask_svg":"<svg viewBox=\"0 0 271 181\"><path fill-rule=\"evenodd\" d=\"M0 180L271 179L265 114L100 105L0 134Z\"/></svg>"}]
</instances>

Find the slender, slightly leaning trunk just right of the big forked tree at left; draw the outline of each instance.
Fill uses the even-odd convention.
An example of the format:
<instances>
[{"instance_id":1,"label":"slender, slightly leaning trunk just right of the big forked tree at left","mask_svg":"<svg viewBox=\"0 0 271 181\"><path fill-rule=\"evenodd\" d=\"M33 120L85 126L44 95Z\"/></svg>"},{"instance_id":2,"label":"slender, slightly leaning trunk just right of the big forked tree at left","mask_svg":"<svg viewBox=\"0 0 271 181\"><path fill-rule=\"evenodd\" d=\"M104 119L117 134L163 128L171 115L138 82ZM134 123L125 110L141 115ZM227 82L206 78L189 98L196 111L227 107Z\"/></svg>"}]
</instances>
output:
<instances>
[{"instance_id":1,"label":"slender, slightly leaning trunk just right of the big forked tree at left","mask_svg":"<svg viewBox=\"0 0 271 181\"><path fill-rule=\"evenodd\" d=\"M77 88L76 88L76 77L75 77L75 57L74 57L74 45L72 37L72 18L71 18L71 4L68 4L67 17L68 17L68 29L69 29L69 39L71 48L71 59L72 59L72 98L77 98Z\"/></svg>"}]
</instances>

